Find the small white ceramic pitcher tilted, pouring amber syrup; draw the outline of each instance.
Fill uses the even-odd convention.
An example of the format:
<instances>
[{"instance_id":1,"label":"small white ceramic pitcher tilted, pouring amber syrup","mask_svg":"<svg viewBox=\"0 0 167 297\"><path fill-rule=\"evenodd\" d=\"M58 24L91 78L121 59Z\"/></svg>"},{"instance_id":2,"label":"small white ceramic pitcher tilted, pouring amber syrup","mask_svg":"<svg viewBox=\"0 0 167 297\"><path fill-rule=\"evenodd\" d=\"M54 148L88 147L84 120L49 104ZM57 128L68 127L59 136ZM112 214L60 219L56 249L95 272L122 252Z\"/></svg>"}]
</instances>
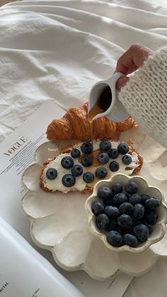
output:
<instances>
[{"instance_id":1,"label":"small white ceramic pitcher tilted, pouring amber syrup","mask_svg":"<svg viewBox=\"0 0 167 297\"><path fill-rule=\"evenodd\" d=\"M89 101L88 101L88 113L91 111L91 108L96 105L100 95L103 93L106 86L110 87L112 98L106 100L110 100L110 106L106 111L103 113L98 113L96 116L92 118L92 120L95 120L96 118L100 118L100 116L106 116L110 120L120 122L125 121L126 118L129 117L129 113L127 113L125 107L122 105L120 100L117 99L118 91L116 90L115 84L117 82L117 79L120 77L123 77L124 74L121 72L116 72L113 74L112 77L109 77L106 80L97 82L93 85L90 95L89 95Z\"/></svg>"}]
</instances>

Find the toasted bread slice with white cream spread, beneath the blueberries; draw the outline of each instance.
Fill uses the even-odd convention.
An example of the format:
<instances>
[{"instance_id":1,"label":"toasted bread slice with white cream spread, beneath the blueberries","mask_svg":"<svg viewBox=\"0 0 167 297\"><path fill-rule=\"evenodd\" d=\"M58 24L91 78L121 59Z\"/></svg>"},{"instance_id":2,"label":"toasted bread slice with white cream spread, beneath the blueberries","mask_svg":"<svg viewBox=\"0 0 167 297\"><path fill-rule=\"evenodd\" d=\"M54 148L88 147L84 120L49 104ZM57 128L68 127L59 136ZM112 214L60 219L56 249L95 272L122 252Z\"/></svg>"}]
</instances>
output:
<instances>
[{"instance_id":1,"label":"toasted bread slice with white cream spread, beneath the blueberries","mask_svg":"<svg viewBox=\"0 0 167 297\"><path fill-rule=\"evenodd\" d=\"M80 191L81 193L86 194L93 191L94 185L99 180L110 179L115 173L127 175L137 174L142 168L143 158L139 155L139 152L134 149L130 142L127 144L129 148L127 154L118 154L115 159L112 159L110 156L110 159L108 157L108 162L105 162L105 164L100 163L98 156L100 153L103 153L103 150L100 148L100 142L100 140L93 140L91 142L92 152L87 155L85 155L82 150L84 142L76 142L73 145L62 147L62 150L57 157L48 159L47 162L43 164L42 172L40 174L40 187L47 192L61 191L62 193L67 194L72 191ZM111 151L113 149L117 150L117 146L120 144L119 141L108 140L108 142L110 142L112 147ZM77 157L72 157L71 152L73 150L79 152ZM110 152L110 150L108 152ZM91 164L84 164L84 157L91 157ZM122 161L122 158L124 157L130 157L130 162L128 164L125 164L125 162ZM64 158L71 159L72 164L70 167L64 167L64 164L62 164L62 159ZM117 163L116 171L112 171L113 169L110 168L113 161L114 163ZM74 174L73 169L77 166L79 167L79 174ZM97 170L99 169L105 171L104 176L97 175ZM49 173L49 176L48 172L51 172ZM86 181L86 179L84 179L85 174L91 174L92 180ZM64 183L64 179L67 179L66 183ZM71 181L72 184L69 184Z\"/></svg>"}]
</instances>

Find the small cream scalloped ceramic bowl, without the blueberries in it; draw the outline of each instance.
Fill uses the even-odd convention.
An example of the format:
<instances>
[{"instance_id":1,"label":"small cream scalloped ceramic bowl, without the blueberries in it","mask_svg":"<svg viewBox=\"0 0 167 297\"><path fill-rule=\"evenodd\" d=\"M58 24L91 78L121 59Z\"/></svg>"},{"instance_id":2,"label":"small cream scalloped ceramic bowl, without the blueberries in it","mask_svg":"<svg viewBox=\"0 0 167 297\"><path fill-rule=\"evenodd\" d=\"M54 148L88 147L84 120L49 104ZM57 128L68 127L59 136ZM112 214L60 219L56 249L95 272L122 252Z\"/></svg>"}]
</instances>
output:
<instances>
[{"instance_id":1,"label":"small cream scalloped ceramic bowl, without the blueberries in it","mask_svg":"<svg viewBox=\"0 0 167 297\"><path fill-rule=\"evenodd\" d=\"M137 247L130 247L129 245L114 247L113 245L109 244L106 239L106 235L103 232L100 232L100 230L97 228L96 215L94 215L91 211L91 204L93 203L93 201L101 201L97 195L98 188L100 186L111 187L116 182L120 182L121 184L123 184L123 186L125 186L128 181L135 181L138 184L139 190L137 191L137 194L146 194L148 196L153 196L161 201L160 206L156 209L158 213L158 220L153 226L153 232L149 235L148 239L145 242L137 245ZM123 187L123 191L124 189L125 187ZM85 207L86 212L88 213L88 227L90 228L91 232L93 233L93 235L99 237L103 241L105 246L108 247L108 249L115 252L144 252L144 250L146 250L150 245L154 244L155 242L159 242L159 240L161 240L161 238L165 235L167 223L167 208L163 194L158 188L149 186L146 182L146 179L144 179L142 176L127 176L125 174L115 174L108 180L98 181L98 183L94 186L93 194L91 194L91 196L87 198Z\"/></svg>"}]
</instances>

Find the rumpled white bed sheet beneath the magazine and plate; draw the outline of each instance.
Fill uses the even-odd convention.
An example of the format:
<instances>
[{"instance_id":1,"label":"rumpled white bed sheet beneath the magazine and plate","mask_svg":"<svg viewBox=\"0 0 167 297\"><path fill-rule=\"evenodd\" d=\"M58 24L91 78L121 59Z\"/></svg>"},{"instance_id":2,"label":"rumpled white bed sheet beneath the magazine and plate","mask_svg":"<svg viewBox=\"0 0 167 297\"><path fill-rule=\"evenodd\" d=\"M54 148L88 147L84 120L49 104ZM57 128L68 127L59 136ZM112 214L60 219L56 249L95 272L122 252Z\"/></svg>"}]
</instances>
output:
<instances>
[{"instance_id":1,"label":"rumpled white bed sheet beneath the magazine and plate","mask_svg":"<svg viewBox=\"0 0 167 297\"><path fill-rule=\"evenodd\" d=\"M166 0L21 1L0 9L0 141L47 99L67 110L113 73L133 43L167 45ZM47 112L47 111L46 111ZM125 297L164 297L167 262Z\"/></svg>"}]
</instances>

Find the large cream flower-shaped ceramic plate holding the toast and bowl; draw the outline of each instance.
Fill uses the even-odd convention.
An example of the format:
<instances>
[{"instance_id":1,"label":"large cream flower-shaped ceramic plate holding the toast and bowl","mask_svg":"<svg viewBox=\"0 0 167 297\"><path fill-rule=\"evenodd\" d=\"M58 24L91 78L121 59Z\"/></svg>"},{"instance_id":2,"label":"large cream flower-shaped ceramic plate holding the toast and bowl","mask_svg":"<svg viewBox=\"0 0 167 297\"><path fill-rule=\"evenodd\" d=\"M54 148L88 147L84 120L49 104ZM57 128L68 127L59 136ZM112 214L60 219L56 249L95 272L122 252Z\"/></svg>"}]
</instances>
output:
<instances>
[{"instance_id":1,"label":"large cream flower-shaped ceramic plate holding the toast and bowl","mask_svg":"<svg viewBox=\"0 0 167 297\"><path fill-rule=\"evenodd\" d=\"M121 140L134 140L144 157L141 172L148 184L158 187L167 199L167 151L138 129L122 133ZM30 220L31 237L36 245L50 250L55 262L68 271L82 269L93 279L107 280L116 274L139 276L149 271L158 259L167 257L167 232L162 240L139 254L113 252L88 229L84 205L88 195L47 193L40 189L42 163L53 158L69 142L45 142L35 152L33 164L23 173L27 190L23 212Z\"/></svg>"}]
</instances>

